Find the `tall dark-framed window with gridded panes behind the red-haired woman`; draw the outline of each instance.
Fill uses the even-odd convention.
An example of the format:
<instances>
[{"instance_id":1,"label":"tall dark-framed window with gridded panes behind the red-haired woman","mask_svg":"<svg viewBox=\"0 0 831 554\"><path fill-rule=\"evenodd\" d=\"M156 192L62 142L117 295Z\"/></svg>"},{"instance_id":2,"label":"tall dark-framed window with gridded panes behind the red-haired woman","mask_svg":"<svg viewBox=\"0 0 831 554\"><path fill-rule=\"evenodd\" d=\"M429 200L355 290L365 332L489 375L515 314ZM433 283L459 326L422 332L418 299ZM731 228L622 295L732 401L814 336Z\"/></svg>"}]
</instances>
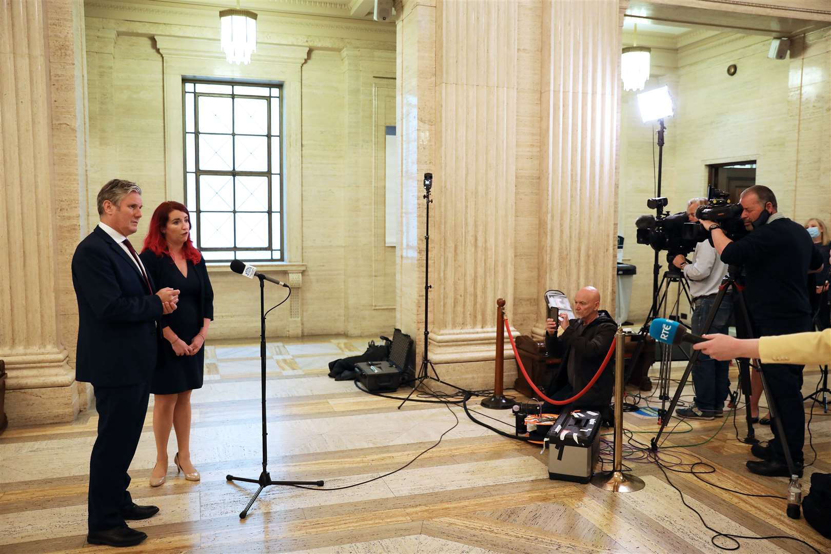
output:
<instances>
[{"instance_id":1,"label":"tall dark-framed window with gridded panes behind the red-haired woman","mask_svg":"<svg viewBox=\"0 0 831 554\"><path fill-rule=\"evenodd\" d=\"M282 87L184 80L185 204L209 262L283 261Z\"/></svg>"}]
</instances>

